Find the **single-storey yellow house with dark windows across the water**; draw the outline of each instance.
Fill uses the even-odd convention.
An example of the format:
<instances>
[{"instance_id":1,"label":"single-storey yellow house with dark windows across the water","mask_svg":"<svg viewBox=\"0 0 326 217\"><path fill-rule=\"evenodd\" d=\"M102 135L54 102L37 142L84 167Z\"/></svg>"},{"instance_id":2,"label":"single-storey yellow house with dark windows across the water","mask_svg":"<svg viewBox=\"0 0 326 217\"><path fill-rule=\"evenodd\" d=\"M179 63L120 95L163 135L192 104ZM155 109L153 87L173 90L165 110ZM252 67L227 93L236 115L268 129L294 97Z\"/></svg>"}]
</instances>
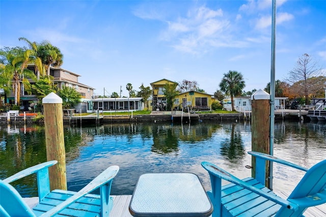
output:
<instances>
[{"instance_id":1,"label":"single-storey yellow house with dark windows across the water","mask_svg":"<svg viewBox=\"0 0 326 217\"><path fill-rule=\"evenodd\" d=\"M189 107L191 110L211 110L212 95L197 91L188 91L180 93L174 100L174 106L177 108Z\"/></svg>"}]
</instances>

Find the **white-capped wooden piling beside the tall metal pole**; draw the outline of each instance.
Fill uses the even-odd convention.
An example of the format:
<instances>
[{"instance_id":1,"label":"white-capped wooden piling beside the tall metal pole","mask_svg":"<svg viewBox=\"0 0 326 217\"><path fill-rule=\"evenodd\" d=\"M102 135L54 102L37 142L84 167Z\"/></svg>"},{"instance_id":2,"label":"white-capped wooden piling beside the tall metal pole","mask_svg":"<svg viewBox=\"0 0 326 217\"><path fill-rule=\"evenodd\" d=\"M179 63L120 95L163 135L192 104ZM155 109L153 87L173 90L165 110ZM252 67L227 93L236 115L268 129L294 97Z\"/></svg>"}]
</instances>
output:
<instances>
[{"instance_id":1,"label":"white-capped wooden piling beside the tall metal pole","mask_svg":"<svg viewBox=\"0 0 326 217\"><path fill-rule=\"evenodd\" d=\"M269 154L269 100L270 96L263 90L252 95L252 151ZM256 157L252 156L252 177L256 173ZM268 164L265 165L265 186L268 186Z\"/></svg>"}]
</instances>

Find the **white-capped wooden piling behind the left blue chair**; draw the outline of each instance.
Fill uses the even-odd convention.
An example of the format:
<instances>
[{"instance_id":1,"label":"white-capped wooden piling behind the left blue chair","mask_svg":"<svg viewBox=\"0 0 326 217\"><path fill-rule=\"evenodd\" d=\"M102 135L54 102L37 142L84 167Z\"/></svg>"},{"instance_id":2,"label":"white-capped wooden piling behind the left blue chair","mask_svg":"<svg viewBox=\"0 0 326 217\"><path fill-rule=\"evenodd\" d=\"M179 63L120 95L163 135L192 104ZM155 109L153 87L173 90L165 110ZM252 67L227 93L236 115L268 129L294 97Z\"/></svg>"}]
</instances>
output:
<instances>
[{"instance_id":1,"label":"white-capped wooden piling behind the left blue chair","mask_svg":"<svg viewBox=\"0 0 326 217\"><path fill-rule=\"evenodd\" d=\"M42 100L44 108L46 159L58 160L49 168L50 189L67 190L66 152L63 133L62 99L50 93Z\"/></svg>"}]
</instances>

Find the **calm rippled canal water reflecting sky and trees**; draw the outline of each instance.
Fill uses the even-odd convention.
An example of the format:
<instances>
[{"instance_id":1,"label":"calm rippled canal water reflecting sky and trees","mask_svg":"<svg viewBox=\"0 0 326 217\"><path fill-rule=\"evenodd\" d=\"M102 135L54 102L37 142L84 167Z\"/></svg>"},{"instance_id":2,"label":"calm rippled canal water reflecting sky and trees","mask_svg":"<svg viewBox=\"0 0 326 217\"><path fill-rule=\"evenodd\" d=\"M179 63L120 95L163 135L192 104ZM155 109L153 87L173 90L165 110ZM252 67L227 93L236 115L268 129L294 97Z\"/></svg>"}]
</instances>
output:
<instances>
[{"instance_id":1,"label":"calm rippled canal water reflecting sky and trees","mask_svg":"<svg viewBox=\"0 0 326 217\"><path fill-rule=\"evenodd\" d=\"M144 173L191 172L210 189L201 167L210 161L243 178L251 175L250 122L196 124L139 123L102 126L64 126L67 184L78 191L111 165L120 171L113 181L113 195L131 195ZM42 126L1 126L0 178L46 161ZM277 122L274 155L311 167L326 158L326 124ZM274 189L291 191L302 172L274 164ZM35 176L16 181L23 197L37 196Z\"/></svg>"}]
</instances>

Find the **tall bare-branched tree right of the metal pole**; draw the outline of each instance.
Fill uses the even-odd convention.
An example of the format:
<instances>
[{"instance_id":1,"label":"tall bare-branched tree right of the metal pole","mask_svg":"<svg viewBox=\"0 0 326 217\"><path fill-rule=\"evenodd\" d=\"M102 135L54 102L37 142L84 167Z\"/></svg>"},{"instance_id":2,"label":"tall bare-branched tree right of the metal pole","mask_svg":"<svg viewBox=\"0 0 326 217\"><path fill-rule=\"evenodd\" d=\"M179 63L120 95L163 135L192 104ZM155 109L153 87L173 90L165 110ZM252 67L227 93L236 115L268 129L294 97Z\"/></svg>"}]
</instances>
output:
<instances>
[{"instance_id":1,"label":"tall bare-branched tree right of the metal pole","mask_svg":"<svg viewBox=\"0 0 326 217\"><path fill-rule=\"evenodd\" d=\"M309 95L312 94L312 90L309 88L309 78L318 77L322 75L321 68L317 65L317 62L313 61L312 58L305 53L297 61L296 66L289 72L288 82L293 84L301 85L303 95L306 98L306 104L309 104Z\"/></svg>"}]
</instances>

